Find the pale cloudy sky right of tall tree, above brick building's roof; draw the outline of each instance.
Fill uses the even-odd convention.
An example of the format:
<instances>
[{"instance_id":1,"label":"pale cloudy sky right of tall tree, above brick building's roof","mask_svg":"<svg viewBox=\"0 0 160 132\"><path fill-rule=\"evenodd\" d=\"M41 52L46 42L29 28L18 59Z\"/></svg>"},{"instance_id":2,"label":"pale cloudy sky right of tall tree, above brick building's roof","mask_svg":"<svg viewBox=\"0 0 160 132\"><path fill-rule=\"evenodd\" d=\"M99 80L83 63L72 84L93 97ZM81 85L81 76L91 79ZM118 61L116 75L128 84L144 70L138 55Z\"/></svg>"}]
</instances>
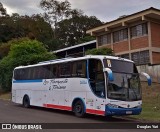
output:
<instances>
[{"instance_id":1,"label":"pale cloudy sky right of tall tree, above brick building's roof","mask_svg":"<svg viewBox=\"0 0 160 132\"><path fill-rule=\"evenodd\" d=\"M155 7L160 9L160 0L69 0L73 7L95 15L100 20L111 21L122 15Z\"/></svg>"}]
</instances>

